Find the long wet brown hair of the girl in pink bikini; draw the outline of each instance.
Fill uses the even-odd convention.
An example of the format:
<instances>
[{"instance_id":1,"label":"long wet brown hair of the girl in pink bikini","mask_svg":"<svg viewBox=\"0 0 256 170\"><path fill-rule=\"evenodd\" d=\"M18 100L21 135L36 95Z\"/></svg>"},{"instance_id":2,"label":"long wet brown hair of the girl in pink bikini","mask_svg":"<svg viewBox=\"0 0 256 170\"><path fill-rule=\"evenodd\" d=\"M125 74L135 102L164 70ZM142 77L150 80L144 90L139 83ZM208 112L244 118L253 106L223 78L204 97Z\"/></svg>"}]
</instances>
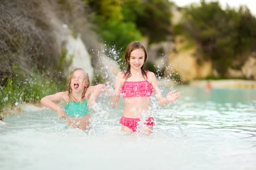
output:
<instances>
[{"instance_id":1,"label":"long wet brown hair of the girl in pink bikini","mask_svg":"<svg viewBox=\"0 0 256 170\"><path fill-rule=\"evenodd\" d=\"M131 77L131 65L130 65L129 60L130 60L130 57L131 57L131 52L136 50L136 49L142 49L144 51L144 63L143 63L143 65L140 69L141 69L141 73L142 73L143 78L144 79L145 79L145 77L148 78L145 70L143 69L143 66L144 66L144 64L147 60L147 57L148 57L147 51L146 51L144 45L141 42L134 41L134 42L131 42L130 44L127 45L127 48L126 48L126 51L125 51L125 58L124 58L124 62L123 62L123 65L126 68L126 71L124 71L124 77L123 77L123 78L125 78L125 81L129 77Z\"/></svg>"}]
</instances>

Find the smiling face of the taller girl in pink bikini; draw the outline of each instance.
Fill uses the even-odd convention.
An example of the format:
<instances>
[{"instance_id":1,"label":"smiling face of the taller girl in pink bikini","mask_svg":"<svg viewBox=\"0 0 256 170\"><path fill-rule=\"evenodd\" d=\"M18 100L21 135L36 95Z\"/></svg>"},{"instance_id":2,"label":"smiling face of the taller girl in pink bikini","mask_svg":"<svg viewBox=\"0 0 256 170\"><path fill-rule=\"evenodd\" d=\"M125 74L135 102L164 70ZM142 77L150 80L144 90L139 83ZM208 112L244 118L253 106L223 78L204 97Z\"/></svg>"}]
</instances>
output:
<instances>
[{"instance_id":1,"label":"smiling face of the taller girl in pink bikini","mask_svg":"<svg viewBox=\"0 0 256 170\"><path fill-rule=\"evenodd\" d=\"M145 61L144 51L140 48L131 51L129 63L134 70L140 70Z\"/></svg>"}]
</instances>

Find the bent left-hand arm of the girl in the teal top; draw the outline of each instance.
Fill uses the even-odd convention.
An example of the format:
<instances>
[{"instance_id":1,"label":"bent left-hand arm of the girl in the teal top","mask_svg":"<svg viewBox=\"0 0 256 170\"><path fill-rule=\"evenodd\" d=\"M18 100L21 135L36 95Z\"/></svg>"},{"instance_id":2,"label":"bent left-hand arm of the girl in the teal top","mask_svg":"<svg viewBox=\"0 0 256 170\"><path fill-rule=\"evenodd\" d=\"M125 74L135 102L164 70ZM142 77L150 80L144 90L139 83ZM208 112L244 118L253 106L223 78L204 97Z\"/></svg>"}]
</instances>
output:
<instances>
[{"instance_id":1,"label":"bent left-hand arm of the girl in the teal top","mask_svg":"<svg viewBox=\"0 0 256 170\"><path fill-rule=\"evenodd\" d=\"M56 94L52 94L49 96L45 96L41 99L41 103L42 105L44 105L47 108L50 108L54 111L57 111L60 119L64 119L66 118L66 113L64 112L64 110L57 104L55 104L54 102L60 101L61 99L64 99L64 94L66 92L58 92Z\"/></svg>"}]
</instances>

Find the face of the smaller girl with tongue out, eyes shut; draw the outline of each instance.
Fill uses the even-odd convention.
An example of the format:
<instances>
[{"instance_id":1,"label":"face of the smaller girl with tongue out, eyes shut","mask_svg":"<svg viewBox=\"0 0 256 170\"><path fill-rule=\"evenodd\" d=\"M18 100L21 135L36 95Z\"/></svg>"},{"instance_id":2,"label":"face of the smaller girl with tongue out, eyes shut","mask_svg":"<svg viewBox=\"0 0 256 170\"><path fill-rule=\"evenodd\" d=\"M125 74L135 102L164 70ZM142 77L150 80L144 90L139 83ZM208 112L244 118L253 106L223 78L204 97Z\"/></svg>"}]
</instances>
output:
<instances>
[{"instance_id":1,"label":"face of the smaller girl with tongue out, eyes shut","mask_svg":"<svg viewBox=\"0 0 256 170\"><path fill-rule=\"evenodd\" d=\"M70 87L72 91L83 91L84 87L86 86L85 82L85 74L83 70L76 70L73 72L71 77L71 84Z\"/></svg>"}]
</instances>

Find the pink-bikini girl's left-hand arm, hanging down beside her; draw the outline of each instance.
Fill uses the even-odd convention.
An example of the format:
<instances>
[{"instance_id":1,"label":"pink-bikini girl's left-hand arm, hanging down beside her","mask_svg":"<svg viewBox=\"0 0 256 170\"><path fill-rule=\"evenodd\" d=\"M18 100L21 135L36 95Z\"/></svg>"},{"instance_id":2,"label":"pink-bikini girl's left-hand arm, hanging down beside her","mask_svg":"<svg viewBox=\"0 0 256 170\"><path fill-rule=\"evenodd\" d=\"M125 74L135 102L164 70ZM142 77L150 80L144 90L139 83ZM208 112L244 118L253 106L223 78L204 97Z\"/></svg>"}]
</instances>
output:
<instances>
[{"instance_id":1,"label":"pink-bikini girl's left-hand arm, hanging down beside her","mask_svg":"<svg viewBox=\"0 0 256 170\"><path fill-rule=\"evenodd\" d=\"M115 93L113 95L111 95L111 99L110 99L110 104L111 104L112 108L116 108L116 106L119 102L120 91L122 88L122 80L123 80L122 72L119 72L116 77L117 77L117 79L116 79Z\"/></svg>"}]
</instances>

